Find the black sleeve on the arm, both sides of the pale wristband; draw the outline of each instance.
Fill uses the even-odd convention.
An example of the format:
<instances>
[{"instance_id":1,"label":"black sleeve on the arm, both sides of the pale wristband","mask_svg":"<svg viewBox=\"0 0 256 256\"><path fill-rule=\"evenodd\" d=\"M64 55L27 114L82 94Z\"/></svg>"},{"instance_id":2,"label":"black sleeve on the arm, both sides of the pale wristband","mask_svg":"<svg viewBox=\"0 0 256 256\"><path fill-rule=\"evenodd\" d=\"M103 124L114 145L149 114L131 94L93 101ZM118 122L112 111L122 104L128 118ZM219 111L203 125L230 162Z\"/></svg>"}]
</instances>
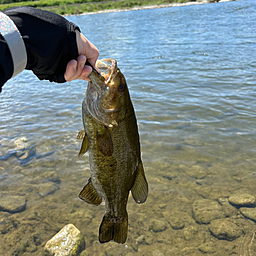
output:
<instances>
[{"instance_id":1,"label":"black sleeve on the arm, both sides of the pale wristband","mask_svg":"<svg viewBox=\"0 0 256 256\"><path fill-rule=\"evenodd\" d=\"M78 56L75 30L79 28L60 15L31 7L3 12L13 20L22 35L28 58L26 69L32 70L41 80L65 82L67 63ZM0 35L0 90L12 73L12 58Z\"/></svg>"}]
</instances>

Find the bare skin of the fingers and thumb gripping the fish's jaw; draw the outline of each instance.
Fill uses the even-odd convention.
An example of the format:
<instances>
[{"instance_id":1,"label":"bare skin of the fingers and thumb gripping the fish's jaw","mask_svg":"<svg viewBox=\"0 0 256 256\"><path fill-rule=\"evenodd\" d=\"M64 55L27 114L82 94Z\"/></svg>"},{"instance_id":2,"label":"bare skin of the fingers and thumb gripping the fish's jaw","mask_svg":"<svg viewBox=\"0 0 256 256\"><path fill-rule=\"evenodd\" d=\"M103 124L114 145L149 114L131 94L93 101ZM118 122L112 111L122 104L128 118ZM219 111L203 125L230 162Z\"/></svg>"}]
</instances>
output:
<instances>
[{"instance_id":1,"label":"bare skin of the fingers and thumb gripping the fish's jaw","mask_svg":"<svg viewBox=\"0 0 256 256\"><path fill-rule=\"evenodd\" d=\"M85 65L88 60L93 66L99 57L99 51L83 34L76 30L76 41L78 54L76 60L70 60L66 67L64 78L66 81L82 79L90 81L89 74L92 72L90 66Z\"/></svg>"}]
</instances>

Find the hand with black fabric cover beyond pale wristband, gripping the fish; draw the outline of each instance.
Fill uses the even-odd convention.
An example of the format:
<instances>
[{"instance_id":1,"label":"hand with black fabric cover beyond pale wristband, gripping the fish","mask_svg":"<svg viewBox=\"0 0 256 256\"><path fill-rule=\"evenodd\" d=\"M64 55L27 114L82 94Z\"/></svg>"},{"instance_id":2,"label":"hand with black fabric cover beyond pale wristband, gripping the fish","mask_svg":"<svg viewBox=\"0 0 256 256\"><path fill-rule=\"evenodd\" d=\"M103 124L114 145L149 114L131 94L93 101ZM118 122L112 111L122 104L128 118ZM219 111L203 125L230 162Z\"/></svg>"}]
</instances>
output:
<instances>
[{"instance_id":1,"label":"hand with black fabric cover beyond pale wristband, gripping the fish","mask_svg":"<svg viewBox=\"0 0 256 256\"><path fill-rule=\"evenodd\" d=\"M64 17L32 7L4 10L23 37L27 51L26 69L40 80L64 83L74 79L89 80L98 49ZM78 57L77 57L78 56Z\"/></svg>"}]
</instances>

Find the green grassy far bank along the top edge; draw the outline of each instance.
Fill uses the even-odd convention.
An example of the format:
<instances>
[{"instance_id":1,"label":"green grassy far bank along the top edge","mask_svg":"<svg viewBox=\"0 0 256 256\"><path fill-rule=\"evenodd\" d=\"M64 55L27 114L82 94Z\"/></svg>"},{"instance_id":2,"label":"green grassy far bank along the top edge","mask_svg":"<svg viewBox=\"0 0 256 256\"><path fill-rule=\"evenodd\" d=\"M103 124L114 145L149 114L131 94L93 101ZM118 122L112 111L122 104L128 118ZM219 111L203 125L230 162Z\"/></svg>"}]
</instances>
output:
<instances>
[{"instance_id":1,"label":"green grassy far bank along the top edge","mask_svg":"<svg viewBox=\"0 0 256 256\"><path fill-rule=\"evenodd\" d=\"M218 1L218 0L217 0ZM17 6L31 6L61 15L81 14L110 9L126 9L149 5L197 2L197 0L0 0L0 11Z\"/></svg>"}]
</instances>

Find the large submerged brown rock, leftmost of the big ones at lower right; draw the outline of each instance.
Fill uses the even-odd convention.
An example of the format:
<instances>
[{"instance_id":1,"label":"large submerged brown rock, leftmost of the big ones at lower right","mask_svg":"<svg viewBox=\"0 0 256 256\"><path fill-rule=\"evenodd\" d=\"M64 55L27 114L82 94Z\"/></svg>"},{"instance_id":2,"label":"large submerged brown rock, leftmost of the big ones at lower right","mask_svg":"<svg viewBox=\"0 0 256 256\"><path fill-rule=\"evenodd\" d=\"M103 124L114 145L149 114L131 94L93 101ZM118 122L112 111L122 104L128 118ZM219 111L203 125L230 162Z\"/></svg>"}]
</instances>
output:
<instances>
[{"instance_id":1,"label":"large submerged brown rock, leftmost of the big ones at lower right","mask_svg":"<svg viewBox=\"0 0 256 256\"><path fill-rule=\"evenodd\" d=\"M211 220L225 217L221 205L217 201L210 199L194 201L192 205L192 215L199 224L207 224Z\"/></svg>"}]
</instances>

